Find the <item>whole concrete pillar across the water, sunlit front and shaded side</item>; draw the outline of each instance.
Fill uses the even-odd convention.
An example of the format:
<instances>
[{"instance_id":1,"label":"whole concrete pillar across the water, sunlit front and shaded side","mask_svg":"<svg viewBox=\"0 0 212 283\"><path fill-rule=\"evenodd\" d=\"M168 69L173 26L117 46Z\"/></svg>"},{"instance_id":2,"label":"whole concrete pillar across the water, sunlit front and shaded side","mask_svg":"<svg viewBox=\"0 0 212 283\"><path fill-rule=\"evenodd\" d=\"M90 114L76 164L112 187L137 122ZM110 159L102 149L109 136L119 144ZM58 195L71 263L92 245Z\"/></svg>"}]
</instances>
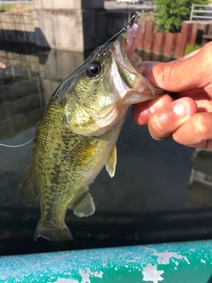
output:
<instances>
[{"instance_id":1,"label":"whole concrete pillar across the water, sunlit front and shaded side","mask_svg":"<svg viewBox=\"0 0 212 283\"><path fill-rule=\"evenodd\" d=\"M34 0L34 28L40 47L93 50L106 40L103 0Z\"/></svg>"}]
</instances>

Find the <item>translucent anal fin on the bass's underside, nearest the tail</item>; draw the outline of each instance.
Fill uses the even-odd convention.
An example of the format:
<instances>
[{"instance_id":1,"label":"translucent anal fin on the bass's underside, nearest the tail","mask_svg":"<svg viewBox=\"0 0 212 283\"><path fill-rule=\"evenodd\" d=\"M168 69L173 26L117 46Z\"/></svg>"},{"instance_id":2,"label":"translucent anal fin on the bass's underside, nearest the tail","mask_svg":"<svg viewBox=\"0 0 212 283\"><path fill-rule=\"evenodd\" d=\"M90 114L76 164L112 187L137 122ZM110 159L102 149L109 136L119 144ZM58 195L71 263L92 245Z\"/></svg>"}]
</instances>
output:
<instances>
[{"instance_id":1,"label":"translucent anal fin on the bass's underside, nearest the tail","mask_svg":"<svg viewBox=\"0 0 212 283\"><path fill-rule=\"evenodd\" d=\"M79 218L89 216L95 213L95 203L88 187L82 187L83 192L79 195L77 201L72 205L72 210Z\"/></svg>"}]
</instances>

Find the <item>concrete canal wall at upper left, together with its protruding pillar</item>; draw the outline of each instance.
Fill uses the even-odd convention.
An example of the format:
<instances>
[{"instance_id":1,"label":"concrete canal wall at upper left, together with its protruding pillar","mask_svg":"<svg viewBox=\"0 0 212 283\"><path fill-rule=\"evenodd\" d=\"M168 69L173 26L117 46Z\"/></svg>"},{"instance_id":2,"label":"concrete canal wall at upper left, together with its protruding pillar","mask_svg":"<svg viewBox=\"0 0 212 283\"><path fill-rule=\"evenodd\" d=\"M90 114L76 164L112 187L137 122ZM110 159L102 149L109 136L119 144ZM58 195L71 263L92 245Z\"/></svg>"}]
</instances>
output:
<instances>
[{"instance_id":1,"label":"concrete canal wall at upper left, together with its protruding pillar","mask_svg":"<svg viewBox=\"0 0 212 283\"><path fill-rule=\"evenodd\" d=\"M33 13L0 13L0 41L91 51L116 34L129 17L128 12L105 11L103 0L34 0Z\"/></svg>"}]
</instances>

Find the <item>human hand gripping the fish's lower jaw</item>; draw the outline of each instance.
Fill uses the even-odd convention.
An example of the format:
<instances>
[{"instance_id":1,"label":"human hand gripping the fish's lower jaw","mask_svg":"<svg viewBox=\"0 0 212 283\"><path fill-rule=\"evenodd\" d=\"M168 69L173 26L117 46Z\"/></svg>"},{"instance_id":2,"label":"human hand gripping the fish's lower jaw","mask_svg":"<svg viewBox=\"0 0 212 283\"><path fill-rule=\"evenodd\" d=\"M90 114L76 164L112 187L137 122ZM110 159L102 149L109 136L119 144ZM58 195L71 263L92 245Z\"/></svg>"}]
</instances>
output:
<instances>
[{"instance_id":1,"label":"human hand gripping the fish's lower jaw","mask_svg":"<svg viewBox=\"0 0 212 283\"><path fill-rule=\"evenodd\" d=\"M133 120L148 124L155 140L172 135L183 145L212 149L212 42L177 61L142 65L148 80L167 94L135 104Z\"/></svg>"}]
</instances>

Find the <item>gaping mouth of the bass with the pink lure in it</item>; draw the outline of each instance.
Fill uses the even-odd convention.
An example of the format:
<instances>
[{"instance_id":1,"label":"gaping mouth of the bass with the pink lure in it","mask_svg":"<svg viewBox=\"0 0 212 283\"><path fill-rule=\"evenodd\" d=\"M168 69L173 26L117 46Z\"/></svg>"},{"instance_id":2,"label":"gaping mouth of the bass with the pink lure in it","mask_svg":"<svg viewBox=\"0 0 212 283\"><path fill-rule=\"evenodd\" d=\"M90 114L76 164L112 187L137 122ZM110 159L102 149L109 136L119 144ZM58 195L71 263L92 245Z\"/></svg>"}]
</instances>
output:
<instances>
[{"instance_id":1,"label":"gaping mouth of the bass with the pink lure in it","mask_svg":"<svg viewBox=\"0 0 212 283\"><path fill-rule=\"evenodd\" d=\"M126 23L125 32L118 36L111 50L117 71L124 82L125 91L120 91L119 97L128 106L164 93L163 89L155 88L142 75L142 59L135 52L141 39L141 31L140 13L136 12L130 22Z\"/></svg>"}]
</instances>

